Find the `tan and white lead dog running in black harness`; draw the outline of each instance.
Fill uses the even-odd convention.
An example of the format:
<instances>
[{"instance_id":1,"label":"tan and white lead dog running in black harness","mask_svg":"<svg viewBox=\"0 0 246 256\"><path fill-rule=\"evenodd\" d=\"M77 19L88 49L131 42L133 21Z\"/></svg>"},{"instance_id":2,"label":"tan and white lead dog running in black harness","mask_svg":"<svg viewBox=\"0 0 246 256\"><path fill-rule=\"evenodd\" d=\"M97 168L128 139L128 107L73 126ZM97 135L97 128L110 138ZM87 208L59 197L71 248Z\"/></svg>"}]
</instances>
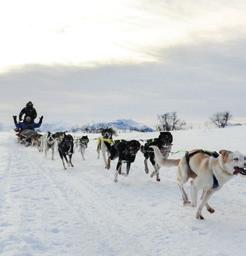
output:
<instances>
[{"instance_id":1,"label":"tan and white lead dog running in black harness","mask_svg":"<svg viewBox=\"0 0 246 256\"><path fill-rule=\"evenodd\" d=\"M214 152L204 150L192 150L187 152L181 159L163 159L158 147L152 146L155 153L155 159L159 166L178 166L177 182L182 193L184 204L189 204L187 193L184 190L184 184L191 181L191 205L197 206L197 194L203 190L201 204L198 207L196 218L204 219L202 209L206 206L210 213L214 209L208 204L212 194L221 189L222 186L233 178L236 174L245 175L246 156L240 152L220 150L218 157L214 157Z\"/></svg>"}]
</instances>

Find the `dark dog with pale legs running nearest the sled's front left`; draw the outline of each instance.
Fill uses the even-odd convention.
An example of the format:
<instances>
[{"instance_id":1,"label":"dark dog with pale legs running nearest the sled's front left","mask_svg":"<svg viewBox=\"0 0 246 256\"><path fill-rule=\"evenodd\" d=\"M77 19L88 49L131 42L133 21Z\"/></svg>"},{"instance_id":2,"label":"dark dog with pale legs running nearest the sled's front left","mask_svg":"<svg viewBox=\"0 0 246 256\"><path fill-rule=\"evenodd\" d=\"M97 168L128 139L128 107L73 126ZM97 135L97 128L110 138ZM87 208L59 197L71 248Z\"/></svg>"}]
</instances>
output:
<instances>
[{"instance_id":1,"label":"dark dog with pale legs running nearest the sled's front left","mask_svg":"<svg viewBox=\"0 0 246 256\"><path fill-rule=\"evenodd\" d=\"M64 134L62 141L58 143L58 152L61 157L63 167L65 170L67 168L66 168L64 159L68 166L73 167L73 164L72 164L73 149L74 149L73 136L70 134Z\"/></svg>"}]
</instances>

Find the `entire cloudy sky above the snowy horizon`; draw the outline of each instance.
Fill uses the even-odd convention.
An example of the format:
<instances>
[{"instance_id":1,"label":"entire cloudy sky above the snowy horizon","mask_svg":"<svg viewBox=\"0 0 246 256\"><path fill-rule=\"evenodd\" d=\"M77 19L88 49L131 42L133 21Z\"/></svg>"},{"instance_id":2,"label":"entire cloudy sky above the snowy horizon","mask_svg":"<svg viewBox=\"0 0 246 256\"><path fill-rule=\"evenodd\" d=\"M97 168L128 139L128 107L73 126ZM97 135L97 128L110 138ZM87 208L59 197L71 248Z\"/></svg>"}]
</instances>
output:
<instances>
[{"instance_id":1,"label":"entire cloudy sky above the snowy horizon","mask_svg":"<svg viewBox=\"0 0 246 256\"><path fill-rule=\"evenodd\" d=\"M0 123L246 117L243 0L0 0Z\"/></svg>"}]
</instances>

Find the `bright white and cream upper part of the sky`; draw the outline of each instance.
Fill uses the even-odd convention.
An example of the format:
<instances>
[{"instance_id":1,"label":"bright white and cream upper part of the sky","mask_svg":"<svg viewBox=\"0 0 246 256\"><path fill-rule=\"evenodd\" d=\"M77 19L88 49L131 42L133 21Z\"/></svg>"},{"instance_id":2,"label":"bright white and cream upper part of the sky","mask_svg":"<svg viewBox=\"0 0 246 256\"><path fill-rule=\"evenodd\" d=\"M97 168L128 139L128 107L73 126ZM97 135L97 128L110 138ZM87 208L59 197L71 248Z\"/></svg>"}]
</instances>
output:
<instances>
[{"instance_id":1,"label":"bright white and cream upper part of the sky","mask_svg":"<svg viewBox=\"0 0 246 256\"><path fill-rule=\"evenodd\" d=\"M1 1L0 67L159 62L156 49L245 33L245 11L242 0Z\"/></svg>"}]
</instances>

